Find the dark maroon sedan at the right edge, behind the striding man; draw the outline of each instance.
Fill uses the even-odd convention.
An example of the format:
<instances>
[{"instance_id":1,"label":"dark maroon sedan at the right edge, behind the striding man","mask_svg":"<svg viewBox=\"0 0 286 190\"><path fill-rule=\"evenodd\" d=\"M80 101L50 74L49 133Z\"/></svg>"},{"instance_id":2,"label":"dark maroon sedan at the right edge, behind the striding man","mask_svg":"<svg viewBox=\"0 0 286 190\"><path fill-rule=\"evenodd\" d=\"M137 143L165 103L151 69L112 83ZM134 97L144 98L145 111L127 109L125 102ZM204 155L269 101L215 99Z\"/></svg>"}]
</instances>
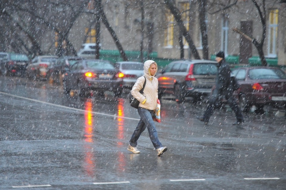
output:
<instances>
[{"instance_id":1,"label":"dark maroon sedan at the right edge, behind the striding man","mask_svg":"<svg viewBox=\"0 0 286 190\"><path fill-rule=\"evenodd\" d=\"M240 108L247 112L252 105L283 106L286 109L286 74L276 67L240 67L234 69L240 88L234 92Z\"/></svg>"}]
</instances>

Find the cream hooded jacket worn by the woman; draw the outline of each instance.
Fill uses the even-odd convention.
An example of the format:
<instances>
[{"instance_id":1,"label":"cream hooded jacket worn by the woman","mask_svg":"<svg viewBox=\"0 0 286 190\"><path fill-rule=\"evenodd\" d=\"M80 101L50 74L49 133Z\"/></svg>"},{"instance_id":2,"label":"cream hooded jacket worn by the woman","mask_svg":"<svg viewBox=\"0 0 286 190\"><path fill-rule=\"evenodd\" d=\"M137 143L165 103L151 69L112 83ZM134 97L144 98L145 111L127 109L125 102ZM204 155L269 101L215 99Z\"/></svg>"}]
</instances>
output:
<instances>
[{"instance_id":1,"label":"cream hooded jacket worn by the woman","mask_svg":"<svg viewBox=\"0 0 286 190\"><path fill-rule=\"evenodd\" d=\"M131 94L134 96L140 103L139 107L146 108L148 110L155 110L157 105L158 99L158 79L154 76L150 75L149 68L151 64L154 63L156 65L156 72L157 72L157 63L153 60L147 60L144 62L144 76L139 77L134 84ZM156 73L155 73L156 74ZM146 77L146 85L141 94L139 91L143 88L144 81ZM142 102L146 99L144 104Z\"/></svg>"}]
</instances>

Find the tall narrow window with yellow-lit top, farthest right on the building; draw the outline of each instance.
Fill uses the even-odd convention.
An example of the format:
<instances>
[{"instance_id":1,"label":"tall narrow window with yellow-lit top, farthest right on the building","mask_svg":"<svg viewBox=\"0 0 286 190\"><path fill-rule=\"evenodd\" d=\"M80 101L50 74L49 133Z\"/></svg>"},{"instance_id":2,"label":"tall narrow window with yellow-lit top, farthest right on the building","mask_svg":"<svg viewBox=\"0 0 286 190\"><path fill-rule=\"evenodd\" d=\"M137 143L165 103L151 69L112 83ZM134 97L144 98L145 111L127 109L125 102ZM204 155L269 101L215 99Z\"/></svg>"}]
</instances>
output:
<instances>
[{"instance_id":1,"label":"tall narrow window with yellow-lit top, farthest right on the building","mask_svg":"<svg viewBox=\"0 0 286 190\"><path fill-rule=\"evenodd\" d=\"M270 10L268 28L268 56L277 57L276 42L278 29L278 9Z\"/></svg>"}]
</instances>

